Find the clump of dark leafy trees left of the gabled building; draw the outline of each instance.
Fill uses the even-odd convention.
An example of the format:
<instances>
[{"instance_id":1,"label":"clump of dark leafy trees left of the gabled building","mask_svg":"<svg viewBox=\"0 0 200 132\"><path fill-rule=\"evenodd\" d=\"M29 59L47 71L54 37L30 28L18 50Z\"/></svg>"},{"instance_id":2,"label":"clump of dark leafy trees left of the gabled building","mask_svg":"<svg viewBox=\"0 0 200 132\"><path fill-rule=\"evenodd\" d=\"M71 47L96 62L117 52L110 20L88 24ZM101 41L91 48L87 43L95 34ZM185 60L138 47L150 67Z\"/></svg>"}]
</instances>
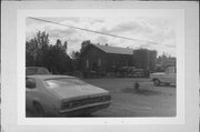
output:
<instances>
[{"instance_id":1,"label":"clump of dark leafy trees left of the gabled building","mask_svg":"<svg viewBox=\"0 0 200 132\"><path fill-rule=\"evenodd\" d=\"M71 71L71 59L67 54L67 41L62 44L58 39L56 44L49 43L49 34L37 32L36 38L26 42L26 65L46 67L53 73Z\"/></svg>"}]
</instances>

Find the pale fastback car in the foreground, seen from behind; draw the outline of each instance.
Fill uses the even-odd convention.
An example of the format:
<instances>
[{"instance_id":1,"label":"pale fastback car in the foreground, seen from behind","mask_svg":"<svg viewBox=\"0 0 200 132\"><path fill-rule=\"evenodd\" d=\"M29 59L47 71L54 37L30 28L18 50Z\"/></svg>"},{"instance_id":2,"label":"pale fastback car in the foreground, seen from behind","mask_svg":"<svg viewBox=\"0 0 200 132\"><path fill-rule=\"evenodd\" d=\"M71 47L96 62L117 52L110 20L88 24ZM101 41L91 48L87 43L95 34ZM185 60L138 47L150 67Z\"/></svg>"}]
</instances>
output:
<instances>
[{"instance_id":1,"label":"pale fastback car in the foreground, seen from behind","mask_svg":"<svg viewBox=\"0 0 200 132\"><path fill-rule=\"evenodd\" d=\"M34 116L71 116L106 109L109 91L68 75L34 74L26 79L26 109Z\"/></svg>"}]
</instances>

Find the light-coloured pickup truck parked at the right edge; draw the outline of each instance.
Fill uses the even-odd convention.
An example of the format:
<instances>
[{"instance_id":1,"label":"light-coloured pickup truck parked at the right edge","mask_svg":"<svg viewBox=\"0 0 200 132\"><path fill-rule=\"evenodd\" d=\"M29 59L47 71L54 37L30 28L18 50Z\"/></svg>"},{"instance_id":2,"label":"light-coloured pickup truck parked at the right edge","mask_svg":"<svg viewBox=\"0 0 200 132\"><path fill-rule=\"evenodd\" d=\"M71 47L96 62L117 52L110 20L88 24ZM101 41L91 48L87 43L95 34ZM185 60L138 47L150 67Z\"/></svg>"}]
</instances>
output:
<instances>
[{"instance_id":1,"label":"light-coloured pickup truck parked at the right edge","mask_svg":"<svg viewBox=\"0 0 200 132\"><path fill-rule=\"evenodd\" d=\"M161 83L168 85L176 85L177 83L177 70L176 67L168 67L164 72L154 72L150 74L150 79L153 81L156 87Z\"/></svg>"}]
</instances>

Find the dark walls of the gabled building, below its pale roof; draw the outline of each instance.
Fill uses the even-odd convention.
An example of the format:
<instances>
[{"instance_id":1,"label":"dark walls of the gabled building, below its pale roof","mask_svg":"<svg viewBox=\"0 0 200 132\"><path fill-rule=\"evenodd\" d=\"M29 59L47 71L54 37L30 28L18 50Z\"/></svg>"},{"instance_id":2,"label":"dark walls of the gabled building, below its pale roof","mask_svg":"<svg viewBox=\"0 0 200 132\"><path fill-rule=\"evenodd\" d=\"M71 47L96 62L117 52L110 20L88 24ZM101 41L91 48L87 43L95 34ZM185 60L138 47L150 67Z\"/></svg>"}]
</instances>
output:
<instances>
[{"instance_id":1,"label":"dark walls of the gabled building, below its pale roof","mask_svg":"<svg viewBox=\"0 0 200 132\"><path fill-rule=\"evenodd\" d=\"M99 60L101 61L100 63ZM106 53L94 45L90 45L81 55L82 72L96 71L94 65L98 65L98 69L106 72L111 72L114 68L132 67L132 55Z\"/></svg>"}]
</instances>

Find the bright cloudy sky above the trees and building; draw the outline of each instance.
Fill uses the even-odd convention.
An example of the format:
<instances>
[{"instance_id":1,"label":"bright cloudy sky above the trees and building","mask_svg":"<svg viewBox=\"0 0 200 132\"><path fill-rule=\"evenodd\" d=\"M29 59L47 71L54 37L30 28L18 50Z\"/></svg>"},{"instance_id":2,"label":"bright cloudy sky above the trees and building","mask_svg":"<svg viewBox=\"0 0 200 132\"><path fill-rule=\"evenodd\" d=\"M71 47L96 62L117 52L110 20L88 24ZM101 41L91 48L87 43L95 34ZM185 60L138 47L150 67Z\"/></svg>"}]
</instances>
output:
<instances>
[{"instance_id":1,"label":"bright cloudy sky above the trees and building","mask_svg":"<svg viewBox=\"0 0 200 132\"><path fill-rule=\"evenodd\" d=\"M38 31L46 31L50 34L50 43L54 44L57 39L68 41L68 53L80 50L83 40L122 48L148 48L158 51L158 54L168 53L176 57L176 21L170 18L40 18L67 26L84 28L103 33L138 39L148 42L131 41L78 29L62 27L43 21L27 19L27 40L36 37Z\"/></svg>"}]
</instances>

